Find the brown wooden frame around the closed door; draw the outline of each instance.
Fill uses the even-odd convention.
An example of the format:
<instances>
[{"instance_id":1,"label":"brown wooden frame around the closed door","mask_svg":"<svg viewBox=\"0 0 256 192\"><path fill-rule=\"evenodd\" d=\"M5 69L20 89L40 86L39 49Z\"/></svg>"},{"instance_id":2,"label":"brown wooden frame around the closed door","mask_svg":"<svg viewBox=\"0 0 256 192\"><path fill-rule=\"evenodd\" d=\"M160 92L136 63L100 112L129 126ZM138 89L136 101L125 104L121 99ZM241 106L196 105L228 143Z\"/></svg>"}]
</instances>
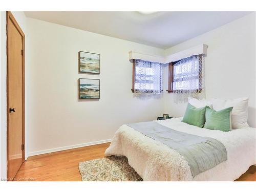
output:
<instances>
[{"instance_id":1,"label":"brown wooden frame around the closed door","mask_svg":"<svg viewBox=\"0 0 256 192\"><path fill-rule=\"evenodd\" d=\"M8 138L9 138L9 98L8 98L8 93L9 93L9 87L8 87L8 82L9 82L9 75L8 75L8 68L9 68L9 58L8 58L8 40L9 40L9 35L8 35L8 25L9 23L12 22L15 26L15 28L18 30L19 34L22 36L22 49L23 49L23 59L22 59L22 102L23 102L23 125L22 125L22 141L23 141L23 153L22 153L22 159L23 162L25 161L25 34L23 33L22 29L19 27L16 19L14 18L13 14L11 11L6 12L6 54L7 54L7 76L6 76L6 88L7 88L7 178L9 178L9 172L8 172L8 161L9 161L9 146L8 146Z\"/></svg>"}]
</instances>

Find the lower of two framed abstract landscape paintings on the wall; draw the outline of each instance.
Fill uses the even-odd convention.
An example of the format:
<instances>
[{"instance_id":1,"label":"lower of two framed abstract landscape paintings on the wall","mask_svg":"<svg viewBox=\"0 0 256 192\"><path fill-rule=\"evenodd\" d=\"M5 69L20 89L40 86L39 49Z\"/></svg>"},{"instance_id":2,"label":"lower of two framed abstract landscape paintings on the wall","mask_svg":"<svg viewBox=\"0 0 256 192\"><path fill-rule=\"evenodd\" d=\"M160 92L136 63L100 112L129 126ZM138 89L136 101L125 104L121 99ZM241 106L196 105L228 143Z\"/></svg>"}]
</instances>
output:
<instances>
[{"instance_id":1,"label":"lower of two framed abstract landscape paintings on the wall","mask_svg":"<svg viewBox=\"0 0 256 192\"><path fill-rule=\"evenodd\" d=\"M80 99L99 99L99 79L79 79Z\"/></svg>"}]
</instances>

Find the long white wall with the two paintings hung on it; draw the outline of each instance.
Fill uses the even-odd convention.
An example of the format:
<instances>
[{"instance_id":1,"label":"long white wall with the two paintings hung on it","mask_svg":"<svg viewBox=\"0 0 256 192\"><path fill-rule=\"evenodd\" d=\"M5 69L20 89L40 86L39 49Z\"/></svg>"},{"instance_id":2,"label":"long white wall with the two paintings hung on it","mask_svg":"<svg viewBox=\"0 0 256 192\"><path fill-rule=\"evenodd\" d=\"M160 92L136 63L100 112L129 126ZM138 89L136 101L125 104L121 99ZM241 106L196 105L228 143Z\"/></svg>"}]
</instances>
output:
<instances>
[{"instance_id":1,"label":"long white wall with the two paintings hung on it","mask_svg":"<svg viewBox=\"0 0 256 192\"><path fill-rule=\"evenodd\" d=\"M29 155L105 141L124 123L162 115L161 98L131 92L128 53L163 55L163 50L32 18L26 35ZM101 55L100 75L78 74L79 51ZM100 99L78 100L78 78L100 79Z\"/></svg>"}]
</instances>

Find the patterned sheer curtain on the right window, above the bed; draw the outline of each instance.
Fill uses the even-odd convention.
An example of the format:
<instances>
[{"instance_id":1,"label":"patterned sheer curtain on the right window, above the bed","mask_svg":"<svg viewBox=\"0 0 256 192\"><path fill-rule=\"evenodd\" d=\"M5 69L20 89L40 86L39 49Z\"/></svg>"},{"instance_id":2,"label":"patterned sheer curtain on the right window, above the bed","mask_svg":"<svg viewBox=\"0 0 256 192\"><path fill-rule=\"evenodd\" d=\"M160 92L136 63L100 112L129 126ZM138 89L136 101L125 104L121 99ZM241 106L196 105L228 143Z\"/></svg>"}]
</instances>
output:
<instances>
[{"instance_id":1,"label":"patterned sheer curtain on the right window, above the bed","mask_svg":"<svg viewBox=\"0 0 256 192\"><path fill-rule=\"evenodd\" d=\"M188 97L205 98L204 55L193 55L174 65L174 101L187 102Z\"/></svg>"}]
</instances>

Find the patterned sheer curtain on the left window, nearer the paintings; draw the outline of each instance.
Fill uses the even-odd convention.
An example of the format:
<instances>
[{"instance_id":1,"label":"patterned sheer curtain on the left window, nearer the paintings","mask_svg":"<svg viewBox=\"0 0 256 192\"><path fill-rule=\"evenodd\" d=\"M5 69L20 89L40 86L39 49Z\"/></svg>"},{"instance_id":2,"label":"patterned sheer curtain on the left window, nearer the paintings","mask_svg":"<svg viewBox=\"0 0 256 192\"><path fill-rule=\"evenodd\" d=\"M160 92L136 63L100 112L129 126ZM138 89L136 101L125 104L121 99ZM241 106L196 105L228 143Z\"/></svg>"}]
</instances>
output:
<instances>
[{"instance_id":1,"label":"patterned sheer curtain on the left window, nearer the paintings","mask_svg":"<svg viewBox=\"0 0 256 192\"><path fill-rule=\"evenodd\" d=\"M163 92L161 63L135 59L134 73L134 93L160 94Z\"/></svg>"}]
</instances>

